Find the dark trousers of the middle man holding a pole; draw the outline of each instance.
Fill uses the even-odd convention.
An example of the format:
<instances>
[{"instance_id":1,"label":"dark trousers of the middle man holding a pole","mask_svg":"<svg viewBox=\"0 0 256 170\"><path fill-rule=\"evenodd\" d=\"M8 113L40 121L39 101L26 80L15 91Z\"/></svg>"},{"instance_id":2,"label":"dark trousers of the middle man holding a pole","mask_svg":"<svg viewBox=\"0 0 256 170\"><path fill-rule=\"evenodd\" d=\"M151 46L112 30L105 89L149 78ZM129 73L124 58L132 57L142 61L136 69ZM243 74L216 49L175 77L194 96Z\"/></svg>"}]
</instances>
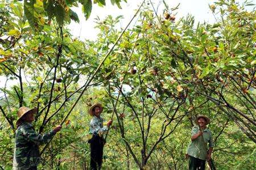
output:
<instances>
[{"instance_id":1,"label":"dark trousers of the middle man holding a pole","mask_svg":"<svg viewBox=\"0 0 256 170\"><path fill-rule=\"evenodd\" d=\"M101 169L104 140L99 135L90 139L90 169Z\"/></svg>"}]
</instances>

